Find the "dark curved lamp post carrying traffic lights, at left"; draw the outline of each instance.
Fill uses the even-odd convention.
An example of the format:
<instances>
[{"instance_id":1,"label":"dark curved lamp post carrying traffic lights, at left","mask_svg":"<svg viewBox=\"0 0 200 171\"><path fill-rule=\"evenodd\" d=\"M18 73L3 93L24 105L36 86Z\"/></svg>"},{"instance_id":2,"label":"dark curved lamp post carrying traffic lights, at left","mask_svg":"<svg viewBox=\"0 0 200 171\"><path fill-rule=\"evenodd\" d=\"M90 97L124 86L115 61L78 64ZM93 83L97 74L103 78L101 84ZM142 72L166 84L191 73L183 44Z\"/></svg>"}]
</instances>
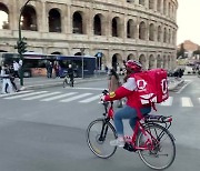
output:
<instances>
[{"instance_id":1,"label":"dark curved lamp post carrying traffic lights, at left","mask_svg":"<svg viewBox=\"0 0 200 171\"><path fill-rule=\"evenodd\" d=\"M19 57L20 57L20 86L22 87L23 86L23 56L22 53L24 52L26 50L26 43L23 42L24 39L21 38L21 16L22 16L22 12L26 8L26 6L29 3L29 1L31 0L28 0L21 8L20 10L20 16L19 16L19 22L18 22L18 27L19 27L19 39L18 39L18 42L17 42L17 48L18 48L18 53L19 53ZM22 47L20 47L20 44L22 44ZM22 49L21 49L22 48Z\"/></svg>"}]
</instances>

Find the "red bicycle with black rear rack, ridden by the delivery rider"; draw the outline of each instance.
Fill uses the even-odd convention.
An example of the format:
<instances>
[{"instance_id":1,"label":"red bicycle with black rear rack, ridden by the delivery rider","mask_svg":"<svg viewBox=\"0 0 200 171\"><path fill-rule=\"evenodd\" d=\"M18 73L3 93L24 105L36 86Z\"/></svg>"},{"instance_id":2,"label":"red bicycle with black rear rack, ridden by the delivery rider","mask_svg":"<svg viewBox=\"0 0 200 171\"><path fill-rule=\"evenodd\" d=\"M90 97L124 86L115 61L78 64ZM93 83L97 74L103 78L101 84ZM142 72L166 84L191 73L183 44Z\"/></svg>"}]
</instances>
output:
<instances>
[{"instance_id":1,"label":"red bicycle with black rear rack, ridden by the delivery rider","mask_svg":"<svg viewBox=\"0 0 200 171\"><path fill-rule=\"evenodd\" d=\"M107 94L108 91L102 93ZM96 119L88 125L87 143L97 157L108 159L117 151L117 147L110 145L110 141L117 139L117 132L111 123L114 114L113 102L103 101L102 104L103 118ZM142 119L138 118L132 137L124 135L123 149L138 152L140 159L151 169L169 168L176 158L174 138L169 132L172 117L149 113Z\"/></svg>"}]
</instances>

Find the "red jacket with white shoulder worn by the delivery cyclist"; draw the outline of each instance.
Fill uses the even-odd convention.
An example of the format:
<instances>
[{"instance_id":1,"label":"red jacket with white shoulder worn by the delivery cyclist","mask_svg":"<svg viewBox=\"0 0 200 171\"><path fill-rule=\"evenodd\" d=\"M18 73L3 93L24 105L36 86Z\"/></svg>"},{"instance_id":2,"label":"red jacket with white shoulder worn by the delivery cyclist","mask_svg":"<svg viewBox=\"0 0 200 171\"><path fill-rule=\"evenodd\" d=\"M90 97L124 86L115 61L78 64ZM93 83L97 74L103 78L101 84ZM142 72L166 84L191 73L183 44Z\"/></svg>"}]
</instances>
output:
<instances>
[{"instance_id":1,"label":"red jacket with white shoulder worn by the delivery cyclist","mask_svg":"<svg viewBox=\"0 0 200 171\"><path fill-rule=\"evenodd\" d=\"M121 98L127 98L127 105L131 108L144 107L141 104L139 94L137 92L137 83L133 74L130 74L127 82L119 87L114 92L110 92L104 97L106 101L119 100ZM148 105L149 107L149 105Z\"/></svg>"}]
</instances>

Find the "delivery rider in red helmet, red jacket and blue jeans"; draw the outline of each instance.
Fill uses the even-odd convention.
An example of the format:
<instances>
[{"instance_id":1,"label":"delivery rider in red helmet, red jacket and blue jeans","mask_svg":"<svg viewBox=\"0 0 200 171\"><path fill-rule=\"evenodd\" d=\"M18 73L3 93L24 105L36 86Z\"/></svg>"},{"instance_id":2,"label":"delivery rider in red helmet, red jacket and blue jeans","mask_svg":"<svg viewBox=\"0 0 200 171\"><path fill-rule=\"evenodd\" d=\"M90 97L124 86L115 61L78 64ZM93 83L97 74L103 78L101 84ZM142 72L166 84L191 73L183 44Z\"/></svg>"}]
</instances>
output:
<instances>
[{"instance_id":1,"label":"delivery rider in red helmet, red jacket and blue jeans","mask_svg":"<svg viewBox=\"0 0 200 171\"><path fill-rule=\"evenodd\" d=\"M124 63L124 66L127 72L124 77L124 83L119 87L114 92L110 92L108 95L101 98L101 100L103 101L119 100L124 97L127 98L127 104L123 108L119 109L113 117L118 139L110 141L110 144L118 147L124 145L122 119L129 119L129 124L133 130L138 114L144 115L151 111L150 104L141 104L140 98L137 93L134 73L141 72L141 63L138 61L129 60Z\"/></svg>"}]
</instances>

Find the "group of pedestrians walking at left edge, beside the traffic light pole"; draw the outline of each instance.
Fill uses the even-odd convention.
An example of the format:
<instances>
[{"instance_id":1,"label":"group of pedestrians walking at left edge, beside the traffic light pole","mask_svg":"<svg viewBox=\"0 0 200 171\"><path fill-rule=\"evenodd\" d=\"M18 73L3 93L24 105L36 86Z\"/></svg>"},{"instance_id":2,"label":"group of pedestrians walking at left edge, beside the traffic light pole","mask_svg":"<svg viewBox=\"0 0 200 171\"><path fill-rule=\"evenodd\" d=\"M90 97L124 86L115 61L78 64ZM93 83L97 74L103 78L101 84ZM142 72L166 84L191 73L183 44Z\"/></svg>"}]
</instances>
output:
<instances>
[{"instance_id":1,"label":"group of pedestrians walking at left edge, beside the traffic light pole","mask_svg":"<svg viewBox=\"0 0 200 171\"><path fill-rule=\"evenodd\" d=\"M18 92L19 89L14 79L19 78L20 64L17 61L13 61L12 64L3 64L0 70L0 78L2 80L1 93Z\"/></svg>"}]
</instances>

